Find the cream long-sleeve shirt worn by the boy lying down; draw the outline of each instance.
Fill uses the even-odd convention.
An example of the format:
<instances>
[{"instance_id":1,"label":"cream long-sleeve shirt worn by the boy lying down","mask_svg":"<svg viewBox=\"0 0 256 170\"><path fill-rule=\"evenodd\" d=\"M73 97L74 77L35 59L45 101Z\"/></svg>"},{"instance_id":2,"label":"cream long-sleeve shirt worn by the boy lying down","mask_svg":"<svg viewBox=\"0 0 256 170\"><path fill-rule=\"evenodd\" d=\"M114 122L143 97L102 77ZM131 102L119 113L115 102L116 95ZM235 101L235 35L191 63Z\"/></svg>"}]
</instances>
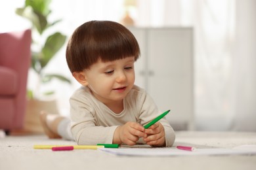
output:
<instances>
[{"instance_id":1,"label":"cream long-sleeve shirt worn by the boy lying down","mask_svg":"<svg viewBox=\"0 0 256 170\"><path fill-rule=\"evenodd\" d=\"M117 126L137 122L144 126L161 112L145 90L133 86L123 99L123 111L116 114L98 101L87 87L81 87L70 98L71 131L77 144L112 143ZM172 146L175 133L169 122L162 118L166 146ZM144 143L144 141L139 140Z\"/></svg>"}]
</instances>

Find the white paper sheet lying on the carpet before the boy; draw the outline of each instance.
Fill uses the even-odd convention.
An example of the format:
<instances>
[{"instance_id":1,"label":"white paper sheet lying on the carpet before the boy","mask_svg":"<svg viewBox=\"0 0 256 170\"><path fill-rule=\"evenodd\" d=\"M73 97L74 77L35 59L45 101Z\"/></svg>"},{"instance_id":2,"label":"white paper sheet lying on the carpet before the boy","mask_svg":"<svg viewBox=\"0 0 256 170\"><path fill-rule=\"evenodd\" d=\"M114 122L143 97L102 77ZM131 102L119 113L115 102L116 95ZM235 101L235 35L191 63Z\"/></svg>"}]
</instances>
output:
<instances>
[{"instance_id":1,"label":"white paper sheet lying on the carpet before the boy","mask_svg":"<svg viewBox=\"0 0 256 170\"><path fill-rule=\"evenodd\" d=\"M200 155L256 155L256 145L235 148L196 148L194 151L170 148L98 148L118 156L200 156Z\"/></svg>"}]
</instances>

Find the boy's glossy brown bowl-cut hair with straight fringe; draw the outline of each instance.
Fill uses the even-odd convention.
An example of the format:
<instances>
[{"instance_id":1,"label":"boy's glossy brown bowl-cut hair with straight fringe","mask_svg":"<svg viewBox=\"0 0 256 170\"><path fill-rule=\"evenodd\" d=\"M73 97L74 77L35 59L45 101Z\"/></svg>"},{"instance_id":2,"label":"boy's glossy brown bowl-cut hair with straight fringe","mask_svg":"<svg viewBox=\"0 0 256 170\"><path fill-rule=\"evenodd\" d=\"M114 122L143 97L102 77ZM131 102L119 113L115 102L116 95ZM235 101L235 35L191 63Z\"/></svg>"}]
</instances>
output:
<instances>
[{"instance_id":1,"label":"boy's glossy brown bowl-cut hair with straight fringe","mask_svg":"<svg viewBox=\"0 0 256 170\"><path fill-rule=\"evenodd\" d=\"M68 41L66 60L72 73L89 69L99 59L114 61L140 56L134 35L126 27L112 21L85 22L75 29Z\"/></svg>"}]
</instances>

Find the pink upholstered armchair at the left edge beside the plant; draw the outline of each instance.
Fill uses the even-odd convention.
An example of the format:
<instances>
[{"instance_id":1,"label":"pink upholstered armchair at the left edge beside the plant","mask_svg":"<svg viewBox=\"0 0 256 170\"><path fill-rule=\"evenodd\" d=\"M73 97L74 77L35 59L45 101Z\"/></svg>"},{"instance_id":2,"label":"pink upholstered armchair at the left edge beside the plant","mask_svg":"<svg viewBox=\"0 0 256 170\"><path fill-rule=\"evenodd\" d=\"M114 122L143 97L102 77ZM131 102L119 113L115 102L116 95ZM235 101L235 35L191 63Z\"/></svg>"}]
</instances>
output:
<instances>
[{"instance_id":1,"label":"pink upholstered armchair at the left edge beside the plant","mask_svg":"<svg viewBox=\"0 0 256 170\"><path fill-rule=\"evenodd\" d=\"M24 126L31 30L0 33L0 129Z\"/></svg>"}]
</instances>

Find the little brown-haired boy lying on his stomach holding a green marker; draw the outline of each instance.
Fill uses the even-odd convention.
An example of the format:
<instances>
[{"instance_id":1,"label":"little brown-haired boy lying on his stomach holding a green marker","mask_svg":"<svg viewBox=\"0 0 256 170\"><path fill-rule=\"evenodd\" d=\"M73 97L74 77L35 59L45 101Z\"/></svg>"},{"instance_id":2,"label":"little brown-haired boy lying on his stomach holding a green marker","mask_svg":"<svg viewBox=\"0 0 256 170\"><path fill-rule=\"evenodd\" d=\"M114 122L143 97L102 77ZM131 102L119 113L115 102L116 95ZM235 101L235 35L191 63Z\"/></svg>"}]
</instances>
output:
<instances>
[{"instance_id":1,"label":"little brown-haired boy lying on his stomach holding a green marker","mask_svg":"<svg viewBox=\"0 0 256 170\"><path fill-rule=\"evenodd\" d=\"M137 40L126 27L91 21L75 29L66 60L82 86L70 98L70 119L41 113L45 133L77 144L117 143L172 146L175 133L165 118L143 126L161 112L153 99L134 84Z\"/></svg>"}]
</instances>

